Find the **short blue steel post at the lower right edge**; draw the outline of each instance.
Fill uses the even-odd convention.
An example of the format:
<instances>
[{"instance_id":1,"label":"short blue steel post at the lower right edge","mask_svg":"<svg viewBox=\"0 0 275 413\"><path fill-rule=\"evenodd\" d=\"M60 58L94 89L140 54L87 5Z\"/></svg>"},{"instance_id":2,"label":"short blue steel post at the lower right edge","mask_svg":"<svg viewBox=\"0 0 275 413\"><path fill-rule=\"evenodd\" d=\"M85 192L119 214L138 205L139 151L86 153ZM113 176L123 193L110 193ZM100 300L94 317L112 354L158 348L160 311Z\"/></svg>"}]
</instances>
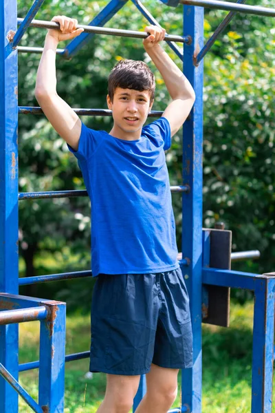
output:
<instances>
[{"instance_id":1,"label":"short blue steel post at the lower right edge","mask_svg":"<svg viewBox=\"0 0 275 413\"><path fill-rule=\"evenodd\" d=\"M252 413L272 413L275 273L272 275L255 280Z\"/></svg>"}]
</instances>

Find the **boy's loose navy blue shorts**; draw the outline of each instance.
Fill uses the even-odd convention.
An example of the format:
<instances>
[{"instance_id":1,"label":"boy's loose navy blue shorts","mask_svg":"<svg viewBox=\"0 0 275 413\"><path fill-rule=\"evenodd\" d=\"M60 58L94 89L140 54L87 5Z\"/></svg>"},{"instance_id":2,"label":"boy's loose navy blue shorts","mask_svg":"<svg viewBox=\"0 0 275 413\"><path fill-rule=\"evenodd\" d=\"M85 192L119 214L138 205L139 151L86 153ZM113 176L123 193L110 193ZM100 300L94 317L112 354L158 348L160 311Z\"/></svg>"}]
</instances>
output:
<instances>
[{"instance_id":1,"label":"boy's loose navy blue shorts","mask_svg":"<svg viewBox=\"0 0 275 413\"><path fill-rule=\"evenodd\" d=\"M192 367L189 299L181 269L97 277L91 304L91 372L146 374L151 363Z\"/></svg>"}]
</instances>

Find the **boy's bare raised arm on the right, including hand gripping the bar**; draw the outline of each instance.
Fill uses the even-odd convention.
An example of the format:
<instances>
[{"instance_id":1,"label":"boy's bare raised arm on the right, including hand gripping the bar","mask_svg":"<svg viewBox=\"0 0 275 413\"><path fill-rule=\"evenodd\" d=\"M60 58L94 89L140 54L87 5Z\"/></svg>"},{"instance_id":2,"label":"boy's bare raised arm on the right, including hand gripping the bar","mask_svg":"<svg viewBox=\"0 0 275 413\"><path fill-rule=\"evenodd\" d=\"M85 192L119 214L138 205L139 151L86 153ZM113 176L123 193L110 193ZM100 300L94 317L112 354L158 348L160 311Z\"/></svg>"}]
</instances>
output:
<instances>
[{"instance_id":1,"label":"boy's bare raised arm on the right, including hand gripping the bar","mask_svg":"<svg viewBox=\"0 0 275 413\"><path fill-rule=\"evenodd\" d=\"M162 115L168 119L173 136L190 113L195 102L195 92L186 76L159 45L159 41L164 39L165 30L151 25L144 31L151 34L143 41L144 49L164 78L164 83L173 99Z\"/></svg>"}]
</instances>

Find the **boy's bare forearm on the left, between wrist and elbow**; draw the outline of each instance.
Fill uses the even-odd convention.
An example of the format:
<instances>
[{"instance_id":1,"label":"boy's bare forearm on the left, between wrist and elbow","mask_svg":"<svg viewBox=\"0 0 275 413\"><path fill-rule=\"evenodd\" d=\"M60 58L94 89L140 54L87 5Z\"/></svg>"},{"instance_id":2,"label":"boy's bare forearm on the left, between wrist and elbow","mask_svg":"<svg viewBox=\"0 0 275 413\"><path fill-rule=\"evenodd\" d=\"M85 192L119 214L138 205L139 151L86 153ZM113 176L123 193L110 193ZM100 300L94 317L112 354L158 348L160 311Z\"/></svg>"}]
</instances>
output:
<instances>
[{"instance_id":1,"label":"boy's bare forearm on the left, between wrist and elbow","mask_svg":"<svg viewBox=\"0 0 275 413\"><path fill-rule=\"evenodd\" d=\"M46 36L43 54L36 76L36 95L56 94L56 49L58 41Z\"/></svg>"}]
</instances>

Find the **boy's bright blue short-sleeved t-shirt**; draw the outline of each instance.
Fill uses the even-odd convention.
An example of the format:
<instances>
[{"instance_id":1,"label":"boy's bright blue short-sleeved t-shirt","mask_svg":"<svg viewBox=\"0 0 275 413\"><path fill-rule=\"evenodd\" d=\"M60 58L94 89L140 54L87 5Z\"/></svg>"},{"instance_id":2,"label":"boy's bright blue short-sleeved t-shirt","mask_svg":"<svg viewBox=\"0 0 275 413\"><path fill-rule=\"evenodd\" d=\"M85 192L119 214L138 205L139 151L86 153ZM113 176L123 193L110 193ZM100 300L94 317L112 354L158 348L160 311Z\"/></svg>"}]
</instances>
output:
<instances>
[{"instance_id":1,"label":"boy's bright blue short-sleeved t-shirt","mask_svg":"<svg viewBox=\"0 0 275 413\"><path fill-rule=\"evenodd\" d=\"M160 118L138 140L82 125L78 158L91 199L93 276L178 268L175 220L164 150L170 125Z\"/></svg>"}]
</instances>

